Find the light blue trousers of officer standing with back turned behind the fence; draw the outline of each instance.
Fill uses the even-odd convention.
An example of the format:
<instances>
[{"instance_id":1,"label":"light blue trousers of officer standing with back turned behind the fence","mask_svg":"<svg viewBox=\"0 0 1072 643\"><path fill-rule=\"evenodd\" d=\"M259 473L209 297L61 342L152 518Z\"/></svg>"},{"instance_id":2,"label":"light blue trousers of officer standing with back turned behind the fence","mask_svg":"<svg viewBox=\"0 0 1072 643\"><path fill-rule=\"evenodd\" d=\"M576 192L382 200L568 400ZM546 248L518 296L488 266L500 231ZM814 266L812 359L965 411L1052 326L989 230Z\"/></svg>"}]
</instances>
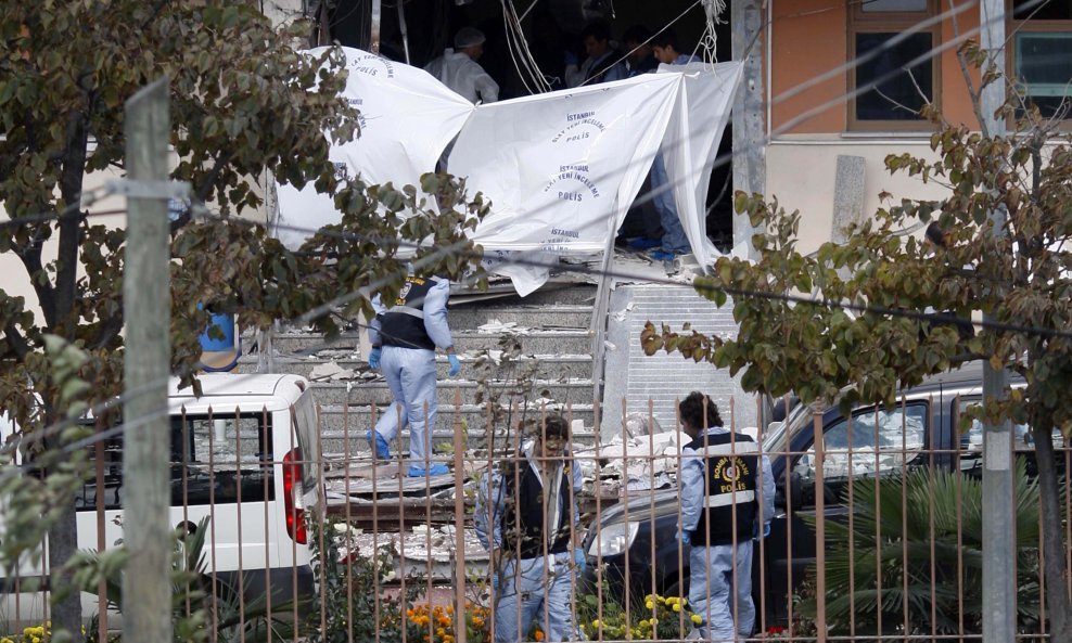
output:
<instances>
[{"instance_id":1,"label":"light blue trousers of officer standing with back turned behind the fence","mask_svg":"<svg viewBox=\"0 0 1072 643\"><path fill-rule=\"evenodd\" d=\"M733 587L735 566L736 588ZM700 634L704 640L722 643L735 641L735 635L744 639L752 634L752 628L755 626L755 605L752 604L751 539L738 542L737 548L732 544L692 546L692 553L689 554L689 603L692 612L703 618Z\"/></svg>"}]
</instances>

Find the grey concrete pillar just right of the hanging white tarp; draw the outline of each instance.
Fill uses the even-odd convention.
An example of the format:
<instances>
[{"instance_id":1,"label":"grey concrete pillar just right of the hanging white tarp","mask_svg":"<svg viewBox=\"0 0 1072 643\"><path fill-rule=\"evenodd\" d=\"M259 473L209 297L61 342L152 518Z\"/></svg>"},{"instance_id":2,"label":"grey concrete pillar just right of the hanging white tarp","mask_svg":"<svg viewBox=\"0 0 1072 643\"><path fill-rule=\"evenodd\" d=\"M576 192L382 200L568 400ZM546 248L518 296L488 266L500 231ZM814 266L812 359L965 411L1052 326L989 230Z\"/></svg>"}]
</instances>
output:
<instances>
[{"instance_id":1,"label":"grey concrete pillar just right of the hanging white tarp","mask_svg":"<svg viewBox=\"0 0 1072 643\"><path fill-rule=\"evenodd\" d=\"M769 0L767 0L769 1ZM763 111L763 25L761 0L730 3L733 60L744 63L741 86L733 98L733 191L765 194L767 191L766 132ZM749 256L755 229L748 215L733 215L733 245L748 243Z\"/></svg>"}]
</instances>

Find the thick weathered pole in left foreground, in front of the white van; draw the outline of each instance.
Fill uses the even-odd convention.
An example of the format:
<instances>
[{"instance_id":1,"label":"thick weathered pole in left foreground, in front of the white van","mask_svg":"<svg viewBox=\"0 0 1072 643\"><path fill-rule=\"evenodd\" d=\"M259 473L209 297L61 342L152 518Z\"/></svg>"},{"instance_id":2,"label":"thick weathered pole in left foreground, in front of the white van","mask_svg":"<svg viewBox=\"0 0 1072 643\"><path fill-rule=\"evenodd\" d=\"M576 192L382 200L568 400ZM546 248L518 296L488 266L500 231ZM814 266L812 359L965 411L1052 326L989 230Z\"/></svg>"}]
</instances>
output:
<instances>
[{"instance_id":1,"label":"thick weathered pole in left foreground, in front of the white van","mask_svg":"<svg viewBox=\"0 0 1072 643\"><path fill-rule=\"evenodd\" d=\"M171 640L171 538L167 524L167 378L171 363L167 218L167 77L126 103L127 245L123 279L123 538L130 552L123 595L127 643Z\"/></svg>"}]
</instances>

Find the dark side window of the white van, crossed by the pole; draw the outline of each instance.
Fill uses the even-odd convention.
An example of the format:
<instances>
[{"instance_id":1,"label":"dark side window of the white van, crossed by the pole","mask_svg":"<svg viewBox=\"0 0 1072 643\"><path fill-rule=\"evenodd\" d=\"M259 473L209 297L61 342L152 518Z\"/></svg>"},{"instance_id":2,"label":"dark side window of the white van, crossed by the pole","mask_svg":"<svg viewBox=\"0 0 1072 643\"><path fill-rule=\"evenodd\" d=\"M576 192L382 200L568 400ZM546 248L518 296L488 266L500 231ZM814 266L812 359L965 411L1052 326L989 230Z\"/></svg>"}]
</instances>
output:
<instances>
[{"instance_id":1,"label":"dark side window of the white van, crossed by the pole","mask_svg":"<svg viewBox=\"0 0 1072 643\"><path fill-rule=\"evenodd\" d=\"M257 502L275 499L271 413L173 415L170 487L173 506ZM104 441L104 473L95 473L75 498L79 511L123 509L123 437ZM97 453L90 447L90 458ZM95 472L95 467L90 470Z\"/></svg>"}]
</instances>

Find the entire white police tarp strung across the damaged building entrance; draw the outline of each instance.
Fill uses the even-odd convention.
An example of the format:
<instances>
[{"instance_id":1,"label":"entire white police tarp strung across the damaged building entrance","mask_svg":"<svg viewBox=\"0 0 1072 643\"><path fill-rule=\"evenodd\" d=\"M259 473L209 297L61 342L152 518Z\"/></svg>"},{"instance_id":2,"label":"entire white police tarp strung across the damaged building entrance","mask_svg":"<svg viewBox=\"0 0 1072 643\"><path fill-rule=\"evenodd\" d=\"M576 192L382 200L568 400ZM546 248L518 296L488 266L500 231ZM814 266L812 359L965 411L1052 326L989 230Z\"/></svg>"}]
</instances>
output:
<instances>
[{"instance_id":1,"label":"entire white police tarp strung across the damaged building entrance","mask_svg":"<svg viewBox=\"0 0 1072 643\"><path fill-rule=\"evenodd\" d=\"M449 171L493 207L474 241L488 270L511 278L520 294L539 287L558 257L610 247L660 149L693 253L701 265L717 256L704 204L739 63L664 65L660 74L474 107L422 69L343 52L344 95L360 110L361 134L331 146L340 175L419 185L457 134ZM278 195L275 234L288 247L341 220L311 183L280 185Z\"/></svg>"}]
</instances>

